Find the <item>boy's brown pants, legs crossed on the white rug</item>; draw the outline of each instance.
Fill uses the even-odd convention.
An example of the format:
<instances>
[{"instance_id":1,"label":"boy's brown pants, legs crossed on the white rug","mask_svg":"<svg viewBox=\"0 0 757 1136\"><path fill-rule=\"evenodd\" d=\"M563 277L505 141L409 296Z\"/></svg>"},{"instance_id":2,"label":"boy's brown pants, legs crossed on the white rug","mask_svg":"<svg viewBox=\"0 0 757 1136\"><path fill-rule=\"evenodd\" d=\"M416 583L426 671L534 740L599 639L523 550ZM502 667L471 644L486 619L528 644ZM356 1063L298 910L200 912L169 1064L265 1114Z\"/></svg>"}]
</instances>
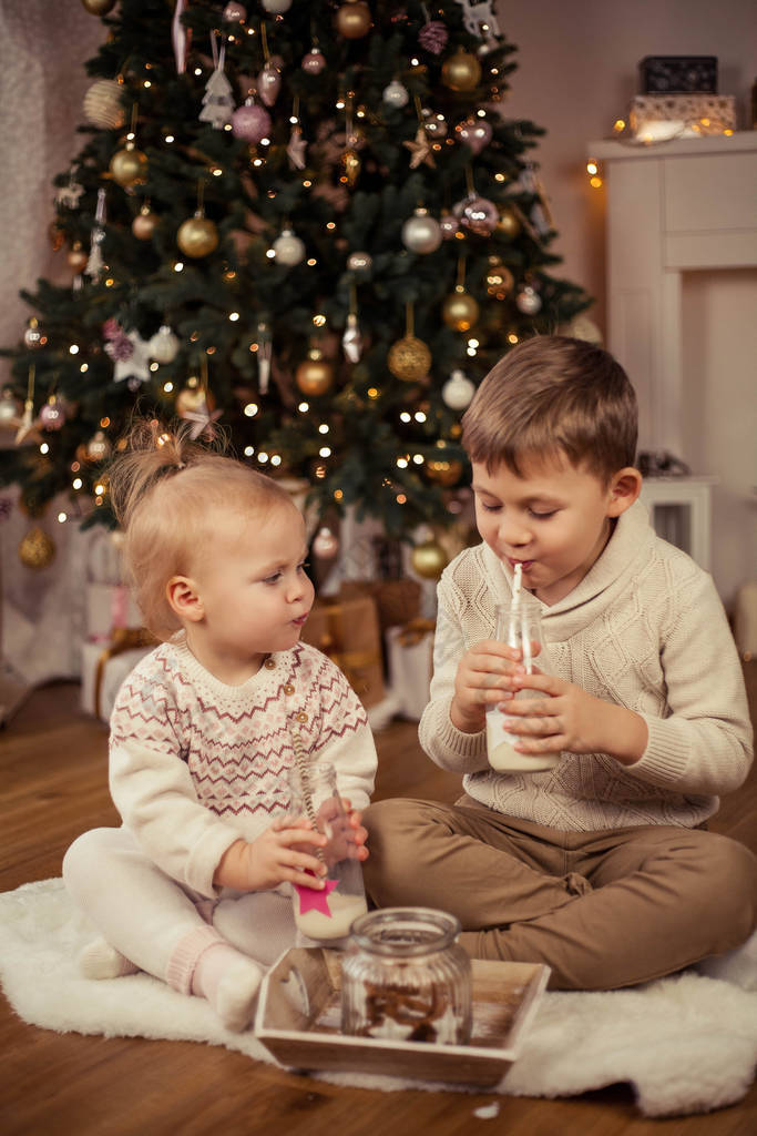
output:
<instances>
[{"instance_id":1,"label":"boy's brown pants, legs crossed on the white rug","mask_svg":"<svg viewBox=\"0 0 757 1136\"><path fill-rule=\"evenodd\" d=\"M376 907L449 911L469 955L546 963L553 989L659 978L757 925L757 858L703 829L561 832L469 796L380 801L363 822Z\"/></svg>"}]
</instances>

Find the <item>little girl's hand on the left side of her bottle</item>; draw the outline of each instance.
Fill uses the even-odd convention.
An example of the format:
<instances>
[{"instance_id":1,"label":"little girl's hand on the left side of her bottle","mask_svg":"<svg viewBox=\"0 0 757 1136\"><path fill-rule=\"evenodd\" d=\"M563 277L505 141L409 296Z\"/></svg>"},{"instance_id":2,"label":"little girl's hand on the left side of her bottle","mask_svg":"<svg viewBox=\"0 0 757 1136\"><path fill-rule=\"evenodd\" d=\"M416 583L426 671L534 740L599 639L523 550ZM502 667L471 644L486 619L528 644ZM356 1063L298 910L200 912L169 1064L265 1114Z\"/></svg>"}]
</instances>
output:
<instances>
[{"instance_id":1,"label":"little girl's hand on the left side of her bottle","mask_svg":"<svg viewBox=\"0 0 757 1136\"><path fill-rule=\"evenodd\" d=\"M213 874L213 884L237 892L268 892L285 880L303 887L322 887L326 866L305 849L322 847L326 843L326 837L314 832L305 817L277 817L256 840L238 840L226 850Z\"/></svg>"}]
</instances>

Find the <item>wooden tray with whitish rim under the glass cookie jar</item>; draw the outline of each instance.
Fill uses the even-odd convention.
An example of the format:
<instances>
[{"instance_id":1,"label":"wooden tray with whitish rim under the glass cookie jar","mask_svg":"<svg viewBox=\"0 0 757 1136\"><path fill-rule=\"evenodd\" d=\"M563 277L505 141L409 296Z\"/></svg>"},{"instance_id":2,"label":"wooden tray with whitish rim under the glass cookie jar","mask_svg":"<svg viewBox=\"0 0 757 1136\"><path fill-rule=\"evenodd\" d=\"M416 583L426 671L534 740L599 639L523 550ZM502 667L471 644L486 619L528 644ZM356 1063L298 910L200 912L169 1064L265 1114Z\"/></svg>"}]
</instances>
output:
<instances>
[{"instance_id":1,"label":"wooden tray with whitish rim under the glass cookie jar","mask_svg":"<svg viewBox=\"0 0 757 1136\"><path fill-rule=\"evenodd\" d=\"M263 979L255 1036L284 1066L495 1085L520 1054L549 967L474 959L468 1045L430 1045L339 1033L340 952L286 951Z\"/></svg>"}]
</instances>

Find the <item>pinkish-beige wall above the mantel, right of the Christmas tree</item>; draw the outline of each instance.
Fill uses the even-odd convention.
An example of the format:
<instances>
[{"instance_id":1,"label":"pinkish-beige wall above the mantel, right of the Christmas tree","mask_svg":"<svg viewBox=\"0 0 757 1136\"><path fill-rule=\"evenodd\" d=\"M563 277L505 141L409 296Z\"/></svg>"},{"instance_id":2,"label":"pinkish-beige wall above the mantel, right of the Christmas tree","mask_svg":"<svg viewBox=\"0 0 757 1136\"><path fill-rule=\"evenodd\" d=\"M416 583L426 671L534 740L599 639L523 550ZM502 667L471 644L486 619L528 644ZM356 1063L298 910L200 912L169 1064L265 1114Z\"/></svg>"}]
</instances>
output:
<instances>
[{"instance_id":1,"label":"pinkish-beige wall above the mantel, right of the Christmas tree","mask_svg":"<svg viewBox=\"0 0 757 1136\"><path fill-rule=\"evenodd\" d=\"M754 0L720 7L712 0L499 0L496 9L519 48L504 111L547 131L535 158L560 231L554 250L564 264L557 274L596 298L592 318L604 328L604 190L589 185L589 143L611 136L640 93L645 56L716 56L720 92L737 97L739 128L749 128L757 77Z\"/></svg>"}]
</instances>

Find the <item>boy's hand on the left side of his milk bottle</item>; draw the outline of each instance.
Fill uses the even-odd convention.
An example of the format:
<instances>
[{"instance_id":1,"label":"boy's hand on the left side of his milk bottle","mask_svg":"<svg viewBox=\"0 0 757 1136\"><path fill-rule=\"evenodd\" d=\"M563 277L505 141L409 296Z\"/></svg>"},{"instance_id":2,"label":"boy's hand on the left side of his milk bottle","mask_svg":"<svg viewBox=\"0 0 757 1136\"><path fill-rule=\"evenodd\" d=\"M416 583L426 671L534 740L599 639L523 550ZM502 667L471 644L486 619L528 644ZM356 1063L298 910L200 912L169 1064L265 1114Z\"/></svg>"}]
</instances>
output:
<instances>
[{"instance_id":1,"label":"boy's hand on the left side of his milk bottle","mask_svg":"<svg viewBox=\"0 0 757 1136\"><path fill-rule=\"evenodd\" d=\"M532 653L538 652L539 644L533 643ZM457 665L449 707L453 726L463 734L479 734L486 726L488 707L513 696L513 692L503 686L504 677L524 673L520 648L507 646L498 640L477 643Z\"/></svg>"}]
</instances>

